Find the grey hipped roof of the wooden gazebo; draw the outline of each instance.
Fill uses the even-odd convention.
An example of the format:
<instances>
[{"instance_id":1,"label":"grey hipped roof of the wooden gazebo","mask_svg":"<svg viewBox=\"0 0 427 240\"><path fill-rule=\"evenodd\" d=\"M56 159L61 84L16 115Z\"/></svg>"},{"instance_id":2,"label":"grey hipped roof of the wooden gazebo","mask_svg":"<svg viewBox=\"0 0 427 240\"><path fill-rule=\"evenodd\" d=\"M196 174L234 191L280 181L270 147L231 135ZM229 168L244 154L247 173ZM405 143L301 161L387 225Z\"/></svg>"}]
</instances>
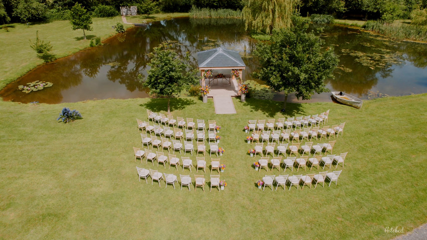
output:
<instances>
[{"instance_id":1,"label":"grey hipped roof of the wooden gazebo","mask_svg":"<svg viewBox=\"0 0 427 240\"><path fill-rule=\"evenodd\" d=\"M222 47L197 52L199 68L245 68L239 52Z\"/></svg>"}]
</instances>

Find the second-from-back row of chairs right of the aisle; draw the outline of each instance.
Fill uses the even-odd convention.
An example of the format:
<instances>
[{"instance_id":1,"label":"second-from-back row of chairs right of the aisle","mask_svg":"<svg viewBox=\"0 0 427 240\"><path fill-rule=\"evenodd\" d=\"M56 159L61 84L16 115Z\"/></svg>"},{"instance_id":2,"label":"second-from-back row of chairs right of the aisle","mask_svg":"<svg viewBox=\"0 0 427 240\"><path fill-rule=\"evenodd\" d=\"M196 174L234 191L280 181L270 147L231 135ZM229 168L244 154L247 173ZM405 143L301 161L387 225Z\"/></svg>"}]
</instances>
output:
<instances>
[{"instance_id":1,"label":"second-from-back row of chairs right of the aisle","mask_svg":"<svg viewBox=\"0 0 427 240\"><path fill-rule=\"evenodd\" d=\"M322 169L325 168L325 166L329 166L329 169L332 167L332 164L335 163L335 169L338 167L339 164L342 164L342 167L344 167L344 160L347 156L347 152L340 153L339 155L336 154L329 154L325 156L300 156L300 157L287 157L283 159L282 156L276 156L273 157L271 160L268 156L261 157L258 161L259 163L259 171L261 171L261 168L265 168L268 171L268 164L270 161L271 171L273 171L273 168L277 168L280 171L280 167L282 166L284 170L286 168L290 168L291 171L293 171L293 167L295 166L298 172L299 168L304 167L304 170L306 170L306 166L310 164L310 170L313 168L313 166L316 166L317 169L319 169L320 165L323 165ZM281 164L280 164L281 163Z\"/></svg>"}]
</instances>

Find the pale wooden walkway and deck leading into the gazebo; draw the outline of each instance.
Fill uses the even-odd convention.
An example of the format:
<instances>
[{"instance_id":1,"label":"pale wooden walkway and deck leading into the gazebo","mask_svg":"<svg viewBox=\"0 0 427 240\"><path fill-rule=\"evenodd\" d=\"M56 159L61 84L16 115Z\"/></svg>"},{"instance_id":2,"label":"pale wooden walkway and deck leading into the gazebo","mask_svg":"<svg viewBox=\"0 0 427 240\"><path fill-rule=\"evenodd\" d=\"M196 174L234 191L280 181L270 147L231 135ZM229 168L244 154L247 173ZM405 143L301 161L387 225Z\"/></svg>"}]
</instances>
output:
<instances>
[{"instance_id":1,"label":"pale wooden walkway and deck leading into the gazebo","mask_svg":"<svg viewBox=\"0 0 427 240\"><path fill-rule=\"evenodd\" d=\"M232 79L230 82L221 78L211 81L208 97L212 97L214 100L216 114L236 113L231 97L239 94L238 86L237 81Z\"/></svg>"}]
</instances>

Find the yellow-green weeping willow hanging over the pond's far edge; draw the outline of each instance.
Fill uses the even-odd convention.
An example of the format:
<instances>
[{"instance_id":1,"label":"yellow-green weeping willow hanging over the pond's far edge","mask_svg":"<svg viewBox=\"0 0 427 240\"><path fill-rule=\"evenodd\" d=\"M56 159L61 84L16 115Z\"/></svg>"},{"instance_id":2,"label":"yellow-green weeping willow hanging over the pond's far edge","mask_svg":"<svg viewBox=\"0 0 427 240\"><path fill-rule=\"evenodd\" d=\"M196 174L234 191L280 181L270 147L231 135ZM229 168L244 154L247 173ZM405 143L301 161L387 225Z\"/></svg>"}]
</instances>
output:
<instances>
[{"instance_id":1,"label":"yellow-green weeping willow hanging over the pond's far edge","mask_svg":"<svg viewBox=\"0 0 427 240\"><path fill-rule=\"evenodd\" d=\"M248 0L243 7L245 29L271 34L273 29L290 27L295 1Z\"/></svg>"}]
</instances>

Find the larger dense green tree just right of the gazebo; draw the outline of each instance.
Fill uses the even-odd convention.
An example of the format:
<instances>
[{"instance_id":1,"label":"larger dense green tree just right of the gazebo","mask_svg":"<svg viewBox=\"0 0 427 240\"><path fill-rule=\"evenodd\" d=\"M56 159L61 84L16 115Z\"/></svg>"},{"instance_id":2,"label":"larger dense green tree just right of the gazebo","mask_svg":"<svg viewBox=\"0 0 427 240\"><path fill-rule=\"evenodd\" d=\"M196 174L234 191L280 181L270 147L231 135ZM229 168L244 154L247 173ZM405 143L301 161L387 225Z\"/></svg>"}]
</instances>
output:
<instances>
[{"instance_id":1,"label":"larger dense green tree just right of the gazebo","mask_svg":"<svg viewBox=\"0 0 427 240\"><path fill-rule=\"evenodd\" d=\"M312 32L307 33L308 21L293 17L293 27L273 31L269 43L260 42L254 54L261 69L256 74L275 91L285 93L284 111L288 94L310 99L314 92L327 91L324 80L333 77L338 58L332 48L324 52L324 43Z\"/></svg>"}]
</instances>

